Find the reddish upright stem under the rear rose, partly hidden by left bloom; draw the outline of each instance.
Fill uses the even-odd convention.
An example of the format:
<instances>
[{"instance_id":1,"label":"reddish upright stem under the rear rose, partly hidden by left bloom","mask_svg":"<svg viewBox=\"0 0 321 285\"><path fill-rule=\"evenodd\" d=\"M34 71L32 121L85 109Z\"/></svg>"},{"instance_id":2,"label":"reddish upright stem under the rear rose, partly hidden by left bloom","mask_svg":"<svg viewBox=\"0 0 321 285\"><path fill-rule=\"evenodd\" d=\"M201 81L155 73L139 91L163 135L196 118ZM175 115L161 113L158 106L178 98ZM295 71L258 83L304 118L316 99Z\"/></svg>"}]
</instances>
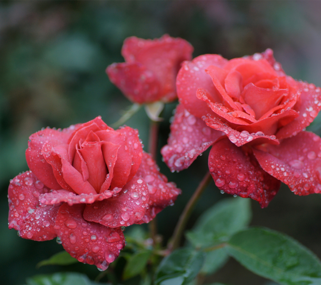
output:
<instances>
[{"instance_id":1,"label":"reddish upright stem under the rear rose, partly hidden by left bloom","mask_svg":"<svg viewBox=\"0 0 321 285\"><path fill-rule=\"evenodd\" d=\"M158 130L159 130L159 122L150 122L149 127L149 139L148 139L148 152L152 155L152 159L156 161L156 154L158 148ZM156 217L148 223L149 231L151 234L151 238L154 240L155 244L155 236L157 235L157 220Z\"/></svg>"}]
</instances>

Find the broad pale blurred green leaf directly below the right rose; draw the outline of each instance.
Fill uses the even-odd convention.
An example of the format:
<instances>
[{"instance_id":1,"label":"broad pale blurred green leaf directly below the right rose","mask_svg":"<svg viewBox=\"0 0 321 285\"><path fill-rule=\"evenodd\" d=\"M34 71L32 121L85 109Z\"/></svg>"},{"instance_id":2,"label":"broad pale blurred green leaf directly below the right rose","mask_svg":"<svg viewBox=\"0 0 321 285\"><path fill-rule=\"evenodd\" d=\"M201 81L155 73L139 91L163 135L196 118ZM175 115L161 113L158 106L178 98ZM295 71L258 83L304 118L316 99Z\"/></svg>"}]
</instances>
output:
<instances>
[{"instance_id":1,"label":"broad pale blurred green leaf directly below the right rose","mask_svg":"<svg viewBox=\"0 0 321 285\"><path fill-rule=\"evenodd\" d=\"M187 239L195 247L209 247L227 241L250 220L250 199L224 199L201 215L194 229L187 232Z\"/></svg>"}]
</instances>

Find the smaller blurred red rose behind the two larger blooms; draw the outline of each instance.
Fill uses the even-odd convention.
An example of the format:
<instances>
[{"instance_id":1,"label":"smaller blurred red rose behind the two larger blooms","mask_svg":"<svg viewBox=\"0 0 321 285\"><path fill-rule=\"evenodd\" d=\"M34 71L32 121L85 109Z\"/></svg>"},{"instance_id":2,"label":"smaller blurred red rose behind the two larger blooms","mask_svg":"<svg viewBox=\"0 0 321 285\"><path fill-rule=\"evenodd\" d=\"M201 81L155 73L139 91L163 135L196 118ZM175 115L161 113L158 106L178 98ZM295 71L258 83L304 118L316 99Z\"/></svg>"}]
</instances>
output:
<instances>
[{"instance_id":1,"label":"smaller blurred red rose behind the two larger blooms","mask_svg":"<svg viewBox=\"0 0 321 285\"><path fill-rule=\"evenodd\" d=\"M131 101L139 104L176 99L175 79L193 47L184 39L168 35L160 39L126 38L121 51L125 63L113 63L109 79Z\"/></svg>"}]
</instances>

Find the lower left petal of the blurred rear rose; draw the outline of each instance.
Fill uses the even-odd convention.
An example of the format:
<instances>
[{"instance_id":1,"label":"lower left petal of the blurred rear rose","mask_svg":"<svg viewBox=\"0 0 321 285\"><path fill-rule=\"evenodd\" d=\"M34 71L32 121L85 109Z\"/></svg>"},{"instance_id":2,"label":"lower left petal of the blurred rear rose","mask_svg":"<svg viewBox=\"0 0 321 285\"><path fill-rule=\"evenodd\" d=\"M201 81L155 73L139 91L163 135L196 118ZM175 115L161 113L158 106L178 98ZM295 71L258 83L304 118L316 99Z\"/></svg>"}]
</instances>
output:
<instances>
[{"instance_id":1,"label":"lower left petal of the blurred rear rose","mask_svg":"<svg viewBox=\"0 0 321 285\"><path fill-rule=\"evenodd\" d=\"M106 69L109 80L132 102L151 103L160 99L160 82L141 63L113 63Z\"/></svg>"}]
</instances>

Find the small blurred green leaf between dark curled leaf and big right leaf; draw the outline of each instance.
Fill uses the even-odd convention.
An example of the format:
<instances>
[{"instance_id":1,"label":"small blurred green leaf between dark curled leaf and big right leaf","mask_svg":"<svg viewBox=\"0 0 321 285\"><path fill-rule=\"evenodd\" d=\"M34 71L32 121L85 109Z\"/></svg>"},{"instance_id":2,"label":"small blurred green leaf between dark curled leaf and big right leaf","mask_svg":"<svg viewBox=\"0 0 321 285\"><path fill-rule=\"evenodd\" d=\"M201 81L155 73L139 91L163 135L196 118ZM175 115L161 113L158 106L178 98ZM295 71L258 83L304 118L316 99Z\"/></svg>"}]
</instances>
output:
<instances>
[{"instance_id":1,"label":"small blurred green leaf between dark curled leaf and big right leaf","mask_svg":"<svg viewBox=\"0 0 321 285\"><path fill-rule=\"evenodd\" d=\"M213 274L219 270L229 259L225 248L219 248L206 252L204 265L201 269L203 274Z\"/></svg>"}]
</instances>

